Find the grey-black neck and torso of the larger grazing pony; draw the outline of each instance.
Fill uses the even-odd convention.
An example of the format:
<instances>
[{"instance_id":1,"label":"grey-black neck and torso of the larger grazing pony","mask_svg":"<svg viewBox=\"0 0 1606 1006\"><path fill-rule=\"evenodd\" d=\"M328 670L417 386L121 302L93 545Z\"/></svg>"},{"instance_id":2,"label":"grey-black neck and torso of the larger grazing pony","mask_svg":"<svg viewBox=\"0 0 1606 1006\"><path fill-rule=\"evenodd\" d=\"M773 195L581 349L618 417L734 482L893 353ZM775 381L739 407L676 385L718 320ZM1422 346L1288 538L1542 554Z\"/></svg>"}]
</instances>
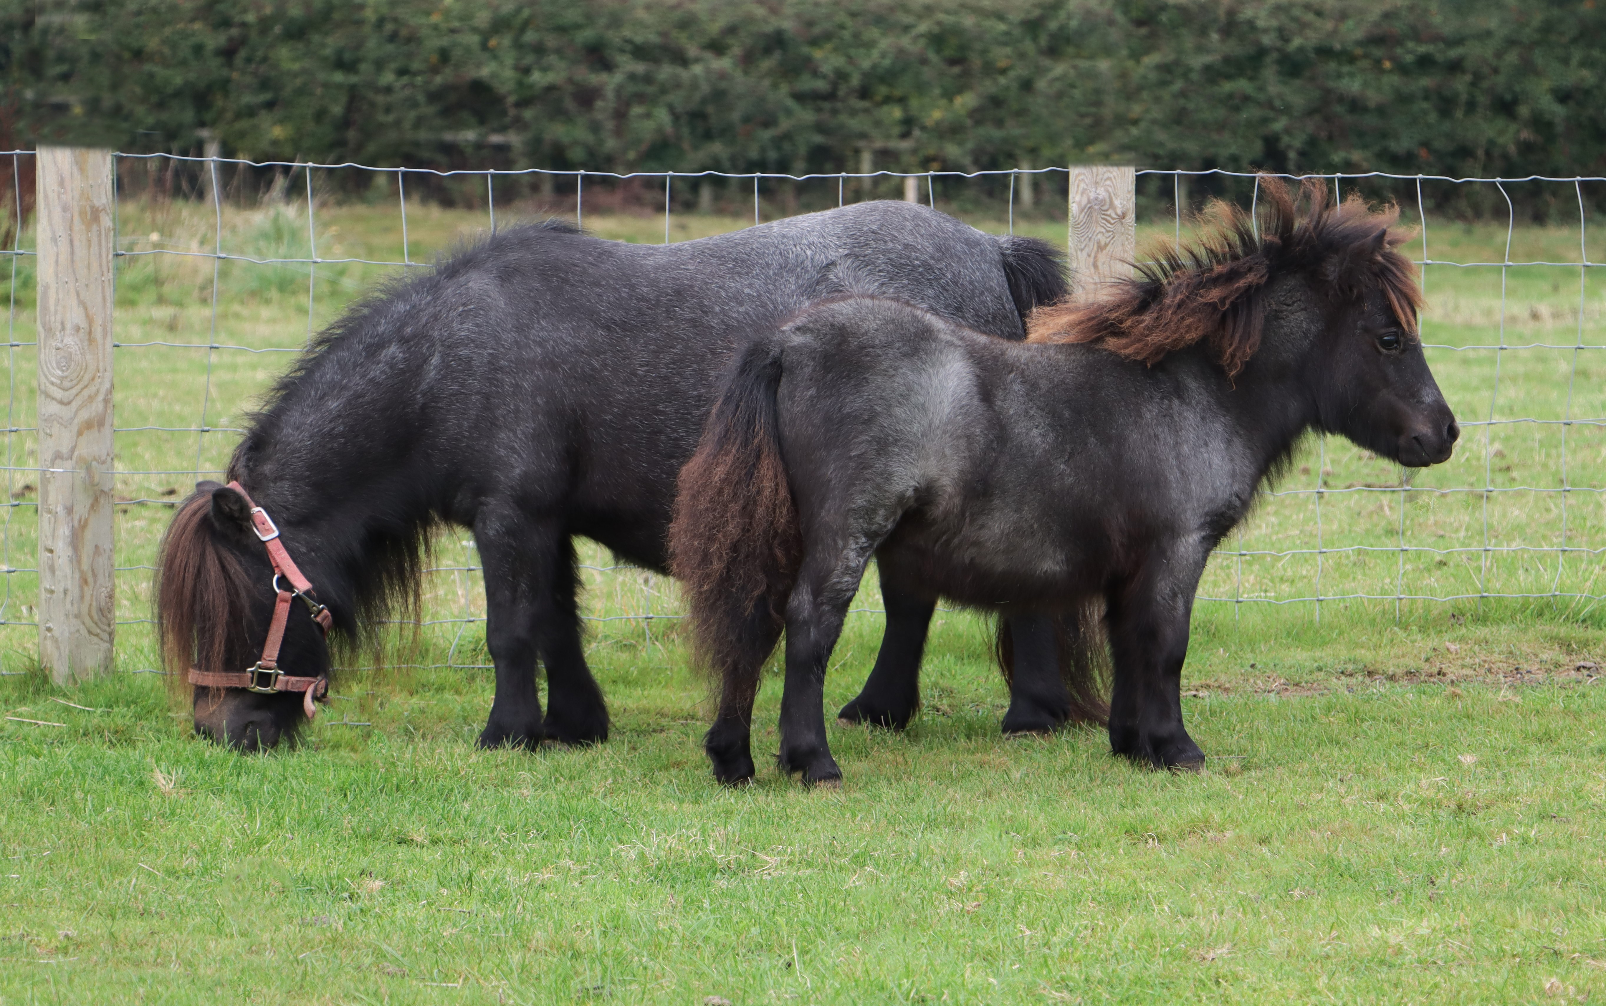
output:
<instances>
[{"instance_id":1,"label":"grey-black neck and torso of the larger grazing pony","mask_svg":"<svg viewBox=\"0 0 1606 1006\"><path fill-rule=\"evenodd\" d=\"M463 519L451 511L464 493L557 479L570 527L662 569L675 474L719 366L755 334L864 294L1020 339L1023 312L1062 292L1050 246L906 202L676 244L511 227L331 325L268 395L231 476L308 485L339 471L324 498L281 501L286 519L363 485L366 521L397 513L384 524L403 535L403 511Z\"/></svg>"}]
</instances>

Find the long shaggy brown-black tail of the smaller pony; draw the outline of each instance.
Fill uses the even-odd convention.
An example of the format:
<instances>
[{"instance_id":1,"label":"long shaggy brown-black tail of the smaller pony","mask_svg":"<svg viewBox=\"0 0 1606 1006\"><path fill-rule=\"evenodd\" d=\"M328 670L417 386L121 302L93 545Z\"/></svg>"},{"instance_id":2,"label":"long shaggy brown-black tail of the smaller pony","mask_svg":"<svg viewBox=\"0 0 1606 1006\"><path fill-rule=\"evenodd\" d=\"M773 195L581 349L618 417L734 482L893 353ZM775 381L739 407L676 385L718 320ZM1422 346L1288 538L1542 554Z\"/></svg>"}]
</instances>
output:
<instances>
[{"instance_id":1,"label":"long shaggy brown-black tail of the smaller pony","mask_svg":"<svg viewBox=\"0 0 1606 1006\"><path fill-rule=\"evenodd\" d=\"M758 669L781 638L803 553L777 439L779 386L781 347L752 344L681 469L670 525L670 570L686 591L692 652L737 701L756 691Z\"/></svg>"}]
</instances>

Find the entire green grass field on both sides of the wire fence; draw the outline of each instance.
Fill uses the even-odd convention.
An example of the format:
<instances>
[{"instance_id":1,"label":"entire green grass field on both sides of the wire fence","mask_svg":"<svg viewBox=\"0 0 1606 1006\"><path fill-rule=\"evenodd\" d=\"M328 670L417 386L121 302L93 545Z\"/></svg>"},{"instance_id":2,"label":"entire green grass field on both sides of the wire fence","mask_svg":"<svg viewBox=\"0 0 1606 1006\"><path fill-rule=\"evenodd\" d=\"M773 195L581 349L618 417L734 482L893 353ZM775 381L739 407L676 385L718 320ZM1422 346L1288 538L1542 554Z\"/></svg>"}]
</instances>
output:
<instances>
[{"instance_id":1,"label":"entire green grass field on both sides of the wire fence","mask_svg":"<svg viewBox=\"0 0 1606 1006\"><path fill-rule=\"evenodd\" d=\"M410 206L406 254L429 260L485 223ZM745 223L676 214L671 238ZM663 239L662 217L586 225ZM1063 243L1063 223L1017 225ZM1505 243L1503 227L1429 220L1436 260L1500 262ZM133 254L117 464L161 472L117 482L124 672L156 665L165 503L223 464L308 334L393 272L215 262L218 244L308 257L305 206L228 209L220 233L210 207L119 207ZM318 206L316 252L400 260L400 214ZM1516 262L1577 256L1577 230L1513 235ZM11 342L31 342L31 262L16 267ZM1410 492L1397 466L1312 440L1211 564L1203 593L1221 601L1195 615L1184 699L1217 755L1208 773L1135 770L1089 731L1001 739L984 632L943 612L922 717L903 736L834 728L848 776L834 794L769 768L742 792L710 783L703 688L673 619L618 617L673 615L673 587L601 551L591 654L615 731L597 750L472 749L490 675L479 624L454 620L483 614L466 535L437 543L435 624L385 670L345 675L299 750L246 760L193 741L156 675L51 689L26 625L34 354L13 346L0 1004L1598 998L1601 612L1588 596L1479 596L1606 593L1592 551L1606 546L1606 301L1585 283L1580 297L1577 268L1428 268L1429 360L1473 424ZM1478 349L1502 341L1522 349ZM1593 423L1478 424L1490 418ZM1400 542L1436 551L1402 558ZM1558 559L1563 543L1585 551ZM1349 595L1383 599L1333 599ZM869 669L877 606L870 583L830 702ZM760 701L760 752L777 693Z\"/></svg>"}]
</instances>

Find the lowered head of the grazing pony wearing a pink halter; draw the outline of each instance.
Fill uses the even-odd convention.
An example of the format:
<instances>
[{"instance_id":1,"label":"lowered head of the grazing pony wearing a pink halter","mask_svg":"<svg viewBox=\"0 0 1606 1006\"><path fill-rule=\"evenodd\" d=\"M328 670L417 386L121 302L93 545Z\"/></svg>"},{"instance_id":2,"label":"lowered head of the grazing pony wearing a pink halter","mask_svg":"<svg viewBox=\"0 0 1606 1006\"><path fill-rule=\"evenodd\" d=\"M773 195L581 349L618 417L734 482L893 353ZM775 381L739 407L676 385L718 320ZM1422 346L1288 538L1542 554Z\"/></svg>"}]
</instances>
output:
<instances>
[{"instance_id":1,"label":"lowered head of the grazing pony wearing a pink halter","mask_svg":"<svg viewBox=\"0 0 1606 1006\"><path fill-rule=\"evenodd\" d=\"M246 497L217 482L198 484L162 537L156 622L167 680L186 693L196 733L241 750L263 750L292 736L305 718L304 697L196 688L188 672L238 673L259 660L278 596L273 579ZM284 627L279 669L316 678L328 677L329 664L323 632L296 604Z\"/></svg>"}]
</instances>

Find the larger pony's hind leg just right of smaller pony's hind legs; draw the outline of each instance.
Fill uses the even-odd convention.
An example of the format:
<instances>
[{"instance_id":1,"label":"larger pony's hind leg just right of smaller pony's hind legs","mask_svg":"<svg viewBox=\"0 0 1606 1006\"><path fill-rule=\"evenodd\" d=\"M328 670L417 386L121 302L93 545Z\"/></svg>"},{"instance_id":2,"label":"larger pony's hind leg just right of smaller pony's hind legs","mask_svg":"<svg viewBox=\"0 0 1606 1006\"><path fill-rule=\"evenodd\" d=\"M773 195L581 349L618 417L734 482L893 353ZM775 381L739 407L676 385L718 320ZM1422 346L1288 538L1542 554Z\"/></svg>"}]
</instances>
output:
<instances>
[{"instance_id":1,"label":"larger pony's hind leg just right of smaller pony's hind legs","mask_svg":"<svg viewBox=\"0 0 1606 1006\"><path fill-rule=\"evenodd\" d=\"M882 607L887 611L882 649L875 654L875 667L870 669L864 689L837 717L848 723L903 730L920 709L920 656L925 652L936 596L922 591L912 570L901 569L895 556L877 556L875 569L882 580Z\"/></svg>"}]
</instances>

